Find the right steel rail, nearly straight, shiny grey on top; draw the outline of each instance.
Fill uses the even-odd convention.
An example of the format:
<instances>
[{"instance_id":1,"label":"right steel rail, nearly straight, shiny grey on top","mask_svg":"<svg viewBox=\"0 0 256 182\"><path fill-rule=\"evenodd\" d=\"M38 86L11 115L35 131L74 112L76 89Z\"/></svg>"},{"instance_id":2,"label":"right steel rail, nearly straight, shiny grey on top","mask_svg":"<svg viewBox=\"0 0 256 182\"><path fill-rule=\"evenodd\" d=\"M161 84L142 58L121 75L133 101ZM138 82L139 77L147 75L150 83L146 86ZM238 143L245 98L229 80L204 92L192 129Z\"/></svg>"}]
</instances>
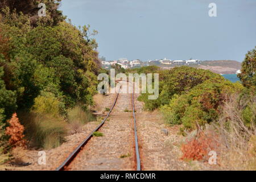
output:
<instances>
[{"instance_id":1,"label":"right steel rail, nearly straight, shiny grey on top","mask_svg":"<svg viewBox=\"0 0 256 182\"><path fill-rule=\"evenodd\" d=\"M134 119L134 137L135 137L135 152L136 152L136 162L137 162L137 171L141 171L141 157L139 155L139 143L136 127L136 118L135 118L135 108L134 108L134 83L133 83L133 93L132 93L132 102L133 102L133 119Z\"/></svg>"}]
</instances>

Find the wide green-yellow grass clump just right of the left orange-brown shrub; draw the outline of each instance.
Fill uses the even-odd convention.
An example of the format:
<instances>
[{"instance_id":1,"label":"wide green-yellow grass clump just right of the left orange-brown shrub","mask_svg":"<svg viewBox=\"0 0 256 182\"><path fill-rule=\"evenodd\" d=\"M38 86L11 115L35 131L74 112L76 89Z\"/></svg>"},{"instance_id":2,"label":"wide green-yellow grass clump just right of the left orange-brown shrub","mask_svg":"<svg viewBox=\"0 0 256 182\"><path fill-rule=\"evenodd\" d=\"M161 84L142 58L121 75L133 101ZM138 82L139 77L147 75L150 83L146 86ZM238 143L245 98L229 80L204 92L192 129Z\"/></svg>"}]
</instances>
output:
<instances>
[{"instance_id":1,"label":"wide green-yellow grass clump just right of the left orange-brown shrub","mask_svg":"<svg viewBox=\"0 0 256 182\"><path fill-rule=\"evenodd\" d=\"M26 139L31 147L50 149L60 146L67 135L67 123L61 118L48 114L19 113L19 119L25 127Z\"/></svg>"}]
</instances>

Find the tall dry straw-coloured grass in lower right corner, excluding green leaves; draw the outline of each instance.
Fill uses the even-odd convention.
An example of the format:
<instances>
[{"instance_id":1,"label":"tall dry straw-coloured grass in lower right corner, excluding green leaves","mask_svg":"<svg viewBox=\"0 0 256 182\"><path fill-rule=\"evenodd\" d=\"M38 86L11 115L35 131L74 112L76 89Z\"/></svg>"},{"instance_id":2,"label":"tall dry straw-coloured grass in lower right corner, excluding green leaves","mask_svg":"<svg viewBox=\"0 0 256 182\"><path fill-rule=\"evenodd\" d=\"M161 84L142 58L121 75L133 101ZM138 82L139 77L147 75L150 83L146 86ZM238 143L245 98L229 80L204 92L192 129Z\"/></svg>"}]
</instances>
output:
<instances>
[{"instance_id":1,"label":"tall dry straw-coloured grass in lower right corner, excluding green leaves","mask_svg":"<svg viewBox=\"0 0 256 182\"><path fill-rule=\"evenodd\" d=\"M240 107L247 103L238 104L237 99L236 95L229 97L215 125L220 134L220 162L233 170L256 170L256 128L254 122L245 126ZM247 102L255 103L255 97Z\"/></svg>"}]
</instances>

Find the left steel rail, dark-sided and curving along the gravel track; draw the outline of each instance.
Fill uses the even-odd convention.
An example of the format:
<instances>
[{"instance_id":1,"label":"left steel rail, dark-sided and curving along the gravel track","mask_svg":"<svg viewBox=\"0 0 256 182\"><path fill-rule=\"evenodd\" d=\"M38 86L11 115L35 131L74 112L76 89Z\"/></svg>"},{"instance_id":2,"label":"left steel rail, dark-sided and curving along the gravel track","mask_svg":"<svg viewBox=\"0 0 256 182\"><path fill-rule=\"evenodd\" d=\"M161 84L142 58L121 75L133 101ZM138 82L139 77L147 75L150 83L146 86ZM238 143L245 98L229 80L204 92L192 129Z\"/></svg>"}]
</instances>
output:
<instances>
[{"instance_id":1,"label":"left steel rail, dark-sided and curving along the gravel track","mask_svg":"<svg viewBox=\"0 0 256 182\"><path fill-rule=\"evenodd\" d=\"M100 123L100 125L98 125L96 127L96 129L94 129L83 141L82 143L76 147L76 149L68 156L68 158L59 166L55 169L55 171L63 171L65 169L65 167L67 167L71 162L72 160L76 157L76 155L79 153L79 151L81 150L81 148L83 146L85 146L85 144L90 140L90 138L92 138L93 136L93 133L95 131L98 131L102 125L104 125L106 119L108 119L110 113L112 112L115 104L117 103L117 98L119 96L119 92L120 92L120 89L121 89L121 86L119 87L119 90L118 90L118 93L117 93L117 96L115 97L115 101L114 101L114 104L112 105L111 109L109 110L109 113L108 115L106 115L106 117L103 119L103 121Z\"/></svg>"}]
</instances>

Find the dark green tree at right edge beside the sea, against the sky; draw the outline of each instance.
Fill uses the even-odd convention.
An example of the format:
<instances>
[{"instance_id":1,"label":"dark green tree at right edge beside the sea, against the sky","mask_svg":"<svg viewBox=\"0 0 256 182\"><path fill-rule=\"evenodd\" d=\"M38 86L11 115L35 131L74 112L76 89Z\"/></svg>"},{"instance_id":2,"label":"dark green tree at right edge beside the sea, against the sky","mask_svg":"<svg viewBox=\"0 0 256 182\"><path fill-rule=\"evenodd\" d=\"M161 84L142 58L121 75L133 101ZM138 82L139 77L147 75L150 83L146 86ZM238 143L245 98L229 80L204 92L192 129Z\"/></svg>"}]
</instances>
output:
<instances>
[{"instance_id":1,"label":"dark green tree at right edge beside the sea, against the sky","mask_svg":"<svg viewBox=\"0 0 256 182\"><path fill-rule=\"evenodd\" d=\"M255 46L256 48L256 46ZM248 51L245 60L242 62L241 73L238 77L246 88L256 88L256 50Z\"/></svg>"}]
</instances>

